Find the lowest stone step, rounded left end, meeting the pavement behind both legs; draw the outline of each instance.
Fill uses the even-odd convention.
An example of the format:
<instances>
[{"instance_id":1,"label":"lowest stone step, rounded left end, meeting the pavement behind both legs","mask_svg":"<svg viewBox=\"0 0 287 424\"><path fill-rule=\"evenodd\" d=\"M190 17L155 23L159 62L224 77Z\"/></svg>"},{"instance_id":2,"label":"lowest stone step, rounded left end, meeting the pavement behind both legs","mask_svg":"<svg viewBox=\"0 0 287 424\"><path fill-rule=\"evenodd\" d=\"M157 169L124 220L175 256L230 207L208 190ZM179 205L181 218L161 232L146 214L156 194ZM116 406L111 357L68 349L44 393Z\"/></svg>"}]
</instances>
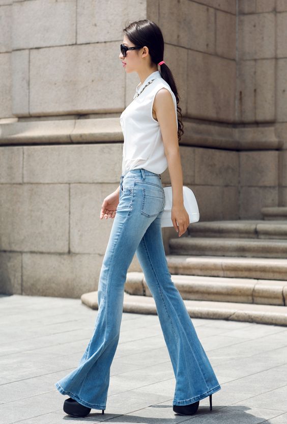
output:
<instances>
[{"instance_id":1,"label":"lowest stone step, rounded left end, meeting the pavement behind both legs","mask_svg":"<svg viewBox=\"0 0 287 424\"><path fill-rule=\"evenodd\" d=\"M84 293L81 302L98 309L98 292ZM190 317L287 326L286 306L184 300ZM124 312L157 314L153 297L124 293Z\"/></svg>"}]
</instances>

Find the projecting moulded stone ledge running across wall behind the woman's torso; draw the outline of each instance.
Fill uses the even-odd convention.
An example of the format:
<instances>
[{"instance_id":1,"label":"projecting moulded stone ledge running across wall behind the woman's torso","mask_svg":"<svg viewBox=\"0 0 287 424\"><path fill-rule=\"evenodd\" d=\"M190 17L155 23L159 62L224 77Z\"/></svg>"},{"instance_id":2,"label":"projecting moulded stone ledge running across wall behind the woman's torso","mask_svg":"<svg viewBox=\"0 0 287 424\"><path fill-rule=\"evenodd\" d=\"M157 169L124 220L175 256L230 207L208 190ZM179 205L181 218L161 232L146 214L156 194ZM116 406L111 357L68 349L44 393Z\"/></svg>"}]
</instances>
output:
<instances>
[{"instance_id":1,"label":"projecting moulded stone ledge running across wall behind the woman's torso","mask_svg":"<svg viewBox=\"0 0 287 424\"><path fill-rule=\"evenodd\" d=\"M123 141L120 114L82 119L0 120L1 144L91 143ZM279 149L273 126L233 128L183 119L181 144L231 150Z\"/></svg>"}]
</instances>

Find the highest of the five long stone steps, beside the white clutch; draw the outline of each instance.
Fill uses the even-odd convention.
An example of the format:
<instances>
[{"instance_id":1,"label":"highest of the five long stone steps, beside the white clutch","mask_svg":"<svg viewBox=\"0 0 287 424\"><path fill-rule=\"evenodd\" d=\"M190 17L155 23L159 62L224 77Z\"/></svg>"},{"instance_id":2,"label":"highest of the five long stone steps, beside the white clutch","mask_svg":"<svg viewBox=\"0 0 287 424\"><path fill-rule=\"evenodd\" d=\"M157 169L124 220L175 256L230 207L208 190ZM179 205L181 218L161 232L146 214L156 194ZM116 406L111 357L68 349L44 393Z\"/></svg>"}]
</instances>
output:
<instances>
[{"instance_id":1,"label":"highest of the five long stone steps, beside the white clutch","mask_svg":"<svg viewBox=\"0 0 287 424\"><path fill-rule=\"evenodd\" d=\"M199 221L189 225L188 234L192 237L287 239L287 220Z\"/></svg>"}]
</instances>

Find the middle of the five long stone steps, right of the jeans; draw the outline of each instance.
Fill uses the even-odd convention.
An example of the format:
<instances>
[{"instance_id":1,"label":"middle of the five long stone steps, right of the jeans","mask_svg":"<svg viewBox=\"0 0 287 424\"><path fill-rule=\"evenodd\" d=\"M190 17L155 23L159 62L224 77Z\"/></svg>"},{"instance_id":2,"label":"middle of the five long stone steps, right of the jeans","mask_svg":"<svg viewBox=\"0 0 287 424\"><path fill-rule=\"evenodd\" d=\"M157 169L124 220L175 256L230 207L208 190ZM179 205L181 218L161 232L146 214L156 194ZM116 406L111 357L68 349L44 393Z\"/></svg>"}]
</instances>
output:
<instances>
[{"instance_id":1,"label":"middle of the five long stone steps, right of the jeans","mask_svg":"<svg viewBox=\"0 0 287 424\"><path fill-rule=\"evenodd\" d=\"M166 255L171 274L287 280L287 259Z\"/></svg>"}]
</instances>

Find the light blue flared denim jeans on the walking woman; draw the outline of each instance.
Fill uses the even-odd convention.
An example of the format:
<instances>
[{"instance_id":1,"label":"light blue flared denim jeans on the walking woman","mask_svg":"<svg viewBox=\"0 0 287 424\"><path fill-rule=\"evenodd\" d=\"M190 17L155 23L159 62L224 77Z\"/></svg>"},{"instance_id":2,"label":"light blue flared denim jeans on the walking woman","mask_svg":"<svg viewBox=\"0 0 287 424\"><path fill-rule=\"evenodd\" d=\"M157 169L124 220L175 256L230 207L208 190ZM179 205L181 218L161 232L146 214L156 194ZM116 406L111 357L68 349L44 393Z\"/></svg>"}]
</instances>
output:
<instances>
[{"instance_id":1,"label":"light blue flared denim jeans on the walking woman","mask_svg":"<svg viewBox=\"0 0 287 424\"><path fill-rule=\"evenodd\" d=\"M55 383L81 405L106 409L110 366L120 337L124 285L136 254L155 300L176 378L173 405L188 405L220 390L179 290L167 267L161 216L165 205L159 174L143 168L121 175L120 202L102 262L94 333L78 367Z\"/></svg>"}]
</instances>

